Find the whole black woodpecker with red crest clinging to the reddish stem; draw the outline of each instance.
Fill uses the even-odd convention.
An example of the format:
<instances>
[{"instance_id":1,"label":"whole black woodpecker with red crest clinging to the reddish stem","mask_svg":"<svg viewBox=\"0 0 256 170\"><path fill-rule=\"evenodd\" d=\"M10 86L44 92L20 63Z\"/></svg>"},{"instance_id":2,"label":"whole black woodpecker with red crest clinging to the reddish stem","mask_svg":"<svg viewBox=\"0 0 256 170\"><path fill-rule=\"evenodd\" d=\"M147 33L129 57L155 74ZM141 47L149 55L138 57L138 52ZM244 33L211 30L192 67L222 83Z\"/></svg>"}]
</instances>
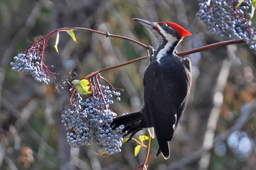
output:
<instances>
[{"instance_id":1,"label":"whole black woodpecker with red crest clinging to the reddish stem","mask_svg":"<svg viewBox=\"0 0 256 170\"><path fill-rule=\"evenodd\" d=\"M178 121L186 107L191 87L191 61L176 55L176 46L191 35L173 22L149 22L134 18L143 24L160 42L154 54L149 48L150 63L144 72L144 106L140 111L113 119L112 125L125 125L130 139L138 131L149 128L149 133L158 140L160 153L165 159L170 157L169 143ZM155 131L155 135L154 135Z\"/></svg>"}]
</instances>

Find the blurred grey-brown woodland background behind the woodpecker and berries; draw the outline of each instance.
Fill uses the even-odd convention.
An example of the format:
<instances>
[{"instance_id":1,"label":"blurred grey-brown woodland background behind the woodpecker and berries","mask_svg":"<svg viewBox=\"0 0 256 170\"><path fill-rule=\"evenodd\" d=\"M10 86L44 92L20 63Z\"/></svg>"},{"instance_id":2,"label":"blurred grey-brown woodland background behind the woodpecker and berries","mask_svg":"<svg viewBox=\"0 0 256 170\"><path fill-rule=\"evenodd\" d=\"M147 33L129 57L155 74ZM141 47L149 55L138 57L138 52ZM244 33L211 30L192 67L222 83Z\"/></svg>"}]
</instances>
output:
<instances>
[{"instance_id":1,"label":"blurred grey-brown woodland background behind the woodpecker and berries","mask_svg":"<svg viewBox=\"0 0 256 170\"><path fill-rule=\"evenodd\" d=\"M133 17L172 21L193 35L178 46L185 51L223 41L208 33L196 17L196 0L0 0L0 169L130 170L144 161L146 149L133 157L131 141L122 152L101 156L100 147L70 148L60 113L68 90L57 92L69 71L78 79L92 71L146 55L142 46L123 39L75 31L78 43L60 32L59 55L55 35L46 48L46 64L58 73L48 85L11 70L10 62L34 38L62 27L86 27L139 40L157 48L158 42ZM255 21L252 21L255 23ZM244 44L229 45L188 56L193 65L190 100L174 139L171 156L155 157L152 140L149 170L256 169L255 52ZM143 103L143 72L147 60L103 72L116 87L124 87L117 114L137 111ZM162 93L162 91L159 91ZM148 134L146 130L138 135ZM96 153L95 153L96 152Z\"/></svg>"}]
</instances>

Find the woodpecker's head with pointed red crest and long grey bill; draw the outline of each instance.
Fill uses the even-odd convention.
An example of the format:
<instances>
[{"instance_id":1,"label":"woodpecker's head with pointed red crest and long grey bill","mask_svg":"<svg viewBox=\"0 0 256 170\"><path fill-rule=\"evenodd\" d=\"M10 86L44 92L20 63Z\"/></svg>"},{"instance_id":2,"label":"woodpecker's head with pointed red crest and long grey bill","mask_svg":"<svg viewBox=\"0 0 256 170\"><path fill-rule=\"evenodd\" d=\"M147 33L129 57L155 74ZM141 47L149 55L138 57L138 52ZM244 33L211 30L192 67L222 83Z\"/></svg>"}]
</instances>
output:
<instances>
[{"instance_id":1,"label":"woodpecker's head with pointed red crest and long grey bill","mask_svg":"<svg viewBox=\"0 0 256 170\"><path fill-rule=\"evenodd\" d=\"M182 40L187 35L192 35L186 29L173 22L149 22L139 18L133 18L143 24L159 41L174 43Z\"/></svg>"}]
</instances>

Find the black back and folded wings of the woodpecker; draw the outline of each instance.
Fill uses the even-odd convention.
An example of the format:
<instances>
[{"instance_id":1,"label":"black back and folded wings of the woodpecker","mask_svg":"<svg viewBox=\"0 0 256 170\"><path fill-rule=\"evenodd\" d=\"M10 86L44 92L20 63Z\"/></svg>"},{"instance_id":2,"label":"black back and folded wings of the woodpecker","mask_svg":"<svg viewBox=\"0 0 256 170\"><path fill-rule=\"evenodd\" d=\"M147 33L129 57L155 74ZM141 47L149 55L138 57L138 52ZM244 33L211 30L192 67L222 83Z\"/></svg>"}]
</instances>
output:
<instances>
[{"instance_id":1,"label":"black back and folded wings of the woodpecker","mask_svg":"<svg viewBox=\"0 0 256 170\"><path fill-rule=\"evenodd\" d=\"M146 120L155 129L159 143L157 155L161 151L165 159L169 158L168 141L172 140L178 120L186 107L191 85L188 78L191 73L187 75L183 60L175 58L161 66L153 61L144 73Z\"/></svg>"}]
</instances>

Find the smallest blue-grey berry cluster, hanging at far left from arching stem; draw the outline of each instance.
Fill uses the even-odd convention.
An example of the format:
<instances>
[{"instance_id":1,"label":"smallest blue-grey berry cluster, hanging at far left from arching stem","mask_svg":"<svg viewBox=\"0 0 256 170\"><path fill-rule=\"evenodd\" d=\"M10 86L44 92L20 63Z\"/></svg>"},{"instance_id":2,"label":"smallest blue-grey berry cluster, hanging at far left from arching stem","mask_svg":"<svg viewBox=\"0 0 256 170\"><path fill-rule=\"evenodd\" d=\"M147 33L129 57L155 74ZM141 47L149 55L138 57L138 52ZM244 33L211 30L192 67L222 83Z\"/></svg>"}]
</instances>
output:
<instances>
[{"instance_id":1,"label":"smallest blue-grey berry cluster, hanging at far left from arching stem","mask_svg":"<svg viewBox=\"0 0 256 170\"><path fill-rule=\"evenodd\" d=\"M20 53L14 57L15 62L11 62L12 70L21 71L24 74L30 74L37 82L48 84L50 79L47 74L41 70L41 57L35 52L29 52L28 55Z\"/></svg>"}]
</instances>

